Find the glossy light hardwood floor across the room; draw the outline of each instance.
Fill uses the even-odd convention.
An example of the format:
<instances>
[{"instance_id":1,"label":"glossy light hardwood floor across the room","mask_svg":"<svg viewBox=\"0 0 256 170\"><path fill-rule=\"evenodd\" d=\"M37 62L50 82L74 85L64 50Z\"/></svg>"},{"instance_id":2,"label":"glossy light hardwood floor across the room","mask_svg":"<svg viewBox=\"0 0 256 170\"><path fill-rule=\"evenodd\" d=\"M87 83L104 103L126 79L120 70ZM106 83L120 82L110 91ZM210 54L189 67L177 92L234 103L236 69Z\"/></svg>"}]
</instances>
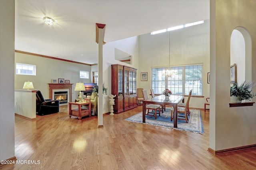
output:
<instances>
[{"instance_id":1,"label":"glossy light hardwood floor across the room","mask_svg":"<svg viewBox=\"0 0 256 170\"><path fill-rule=\"evenodd\" d=\"M15 116L15 156L40 164L1 166L1 170L252 170L256 149L212 155L209 112L201 111L205 135L124 121L142 111L78 120L60 112L30 121Z\"/></svg>"}]
</instances>

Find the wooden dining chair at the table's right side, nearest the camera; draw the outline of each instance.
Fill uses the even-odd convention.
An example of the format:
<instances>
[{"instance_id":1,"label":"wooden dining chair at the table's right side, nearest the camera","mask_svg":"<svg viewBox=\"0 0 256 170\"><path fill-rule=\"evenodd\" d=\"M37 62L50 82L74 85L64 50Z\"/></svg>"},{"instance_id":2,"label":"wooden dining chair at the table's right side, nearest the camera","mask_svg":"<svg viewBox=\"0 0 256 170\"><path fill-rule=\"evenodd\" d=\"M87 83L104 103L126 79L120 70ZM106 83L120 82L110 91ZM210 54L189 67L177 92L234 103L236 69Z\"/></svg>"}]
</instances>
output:
<instances>
[{"instance_id":1,"label":"wooden dining chair at the table's right side, nearest the camera","mask_svg":"<svg viewBox=\"0 0 256 170\"><path fill-rule=\"evenodd\" d=\"M178 113L178 118L177 119L178 120L185 120L186 123L188 123L188 115L190 115L188 107L189 107L189 100L190 100L190 97L191 97L191 93L192 93L192 90L190 90L190 95L188 96L188 101L186 102L185 107L178 106L178 110L177 110L177 113ZM174 107L171 108L171 121L173 119L173 111L174 111ZM179 117L183 117L183 118L179 118Z\"/></svg>"}]
</instances>

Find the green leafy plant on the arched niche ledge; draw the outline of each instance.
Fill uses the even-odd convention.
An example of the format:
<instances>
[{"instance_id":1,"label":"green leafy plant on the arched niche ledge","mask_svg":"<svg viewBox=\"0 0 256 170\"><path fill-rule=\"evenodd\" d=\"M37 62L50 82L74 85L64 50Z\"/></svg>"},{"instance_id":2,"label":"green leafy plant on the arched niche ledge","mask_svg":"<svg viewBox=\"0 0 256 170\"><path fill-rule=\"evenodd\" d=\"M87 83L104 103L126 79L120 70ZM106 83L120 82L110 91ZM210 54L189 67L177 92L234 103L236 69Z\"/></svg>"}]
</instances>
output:
<instances>
[{"instance_id":1,"label":"green leafy plant on the arched niche ledge","mask_svg":"<svg viewBox=\"0 0 256 170\"><path fill-rule=\"evenodd\" d=\"M252 93L250 90L254 86L254 83L244 81L240 86L238 86L237 82L235 82L230 87L230 96L236 96L237 100L250 100L256 93Z\"/></svg>"}]
</instances>

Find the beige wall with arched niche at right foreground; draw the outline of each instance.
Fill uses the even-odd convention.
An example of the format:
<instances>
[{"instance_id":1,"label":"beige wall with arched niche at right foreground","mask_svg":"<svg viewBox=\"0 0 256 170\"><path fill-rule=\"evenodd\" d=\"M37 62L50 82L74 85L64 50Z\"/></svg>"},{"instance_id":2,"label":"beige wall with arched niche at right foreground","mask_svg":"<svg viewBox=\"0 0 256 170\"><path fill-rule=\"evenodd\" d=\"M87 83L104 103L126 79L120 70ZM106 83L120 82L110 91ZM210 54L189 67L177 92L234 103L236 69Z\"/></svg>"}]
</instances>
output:
<instances>
[{"instance_id":1,"label":"beige wall with arched niche at right foreground","mask_svg":"<svg viewBox=\"0 0 256 170\"><path fill-rule=\"evenodd\" d=\"M223 150L256 144L256 105L229 107L230 37L244 27L252 39L252 66L256 65L255 0L210 1L210 148ZM252 67L256 82L256 67ZM256 87L253 88L256 92ZM256 98L252 100L256 102Z\"/></svg>"}]
</instances>

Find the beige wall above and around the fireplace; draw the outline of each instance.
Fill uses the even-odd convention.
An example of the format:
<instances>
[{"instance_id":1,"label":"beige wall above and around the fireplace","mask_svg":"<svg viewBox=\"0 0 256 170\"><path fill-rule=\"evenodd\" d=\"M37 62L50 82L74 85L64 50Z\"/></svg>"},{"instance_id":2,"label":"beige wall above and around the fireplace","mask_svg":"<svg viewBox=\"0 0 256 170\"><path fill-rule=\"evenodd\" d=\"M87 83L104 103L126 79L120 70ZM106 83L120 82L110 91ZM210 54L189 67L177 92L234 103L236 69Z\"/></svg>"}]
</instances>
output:
<instances>
[{"instance_id":1,"label":"beige wall above and around the fireplace","mask_svg":"<svg viewBox=\"0 0 256 170\"><path fill-rule=\"evenodd\" d=\"M49 98L48 83L52 83L52 79L64 78L70 80L72 86L72 101L74 101L79 92L74 91L77 82L89 83L91 76L88 79L80 78L79 72L91 72L91 66L84 64L76 64L66 61L49 59L45 57L38 57L34 55L27 55L22 53L15 53L15 64L32 64L36 65L36 76L16 75L15 73L15 90L20 90L25 81L33 82L36 90L41 90L45 99Z\"/></svg>"}]
</instances>

